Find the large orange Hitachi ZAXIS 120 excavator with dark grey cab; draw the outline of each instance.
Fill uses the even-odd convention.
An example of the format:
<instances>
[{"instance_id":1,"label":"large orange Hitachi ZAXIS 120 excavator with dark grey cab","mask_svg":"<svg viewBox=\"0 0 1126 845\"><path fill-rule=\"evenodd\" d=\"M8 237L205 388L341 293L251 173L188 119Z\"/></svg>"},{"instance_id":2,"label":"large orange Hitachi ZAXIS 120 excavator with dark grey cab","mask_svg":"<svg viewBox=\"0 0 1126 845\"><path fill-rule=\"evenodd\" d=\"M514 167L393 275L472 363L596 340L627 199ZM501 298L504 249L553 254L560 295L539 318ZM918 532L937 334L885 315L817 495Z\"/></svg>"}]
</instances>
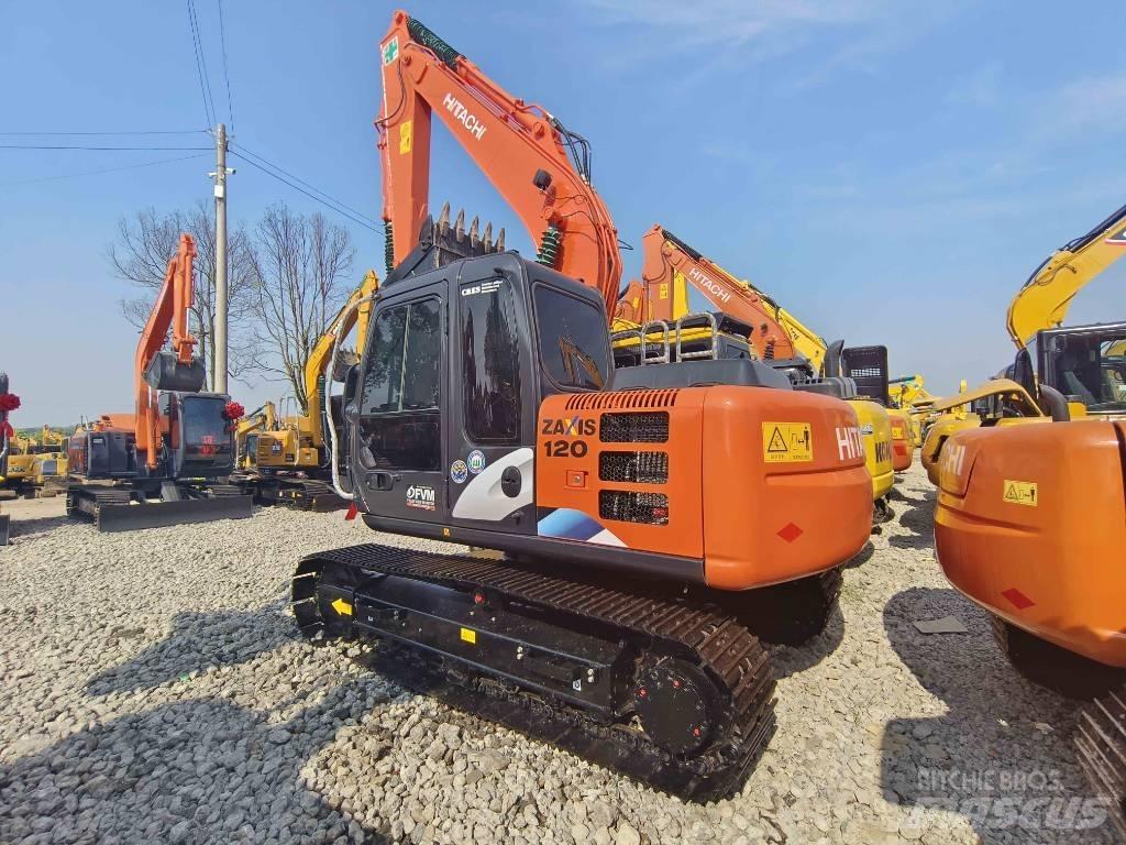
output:
<instances>
[{"instance_id":1,"label":"large orange Hitachi ZAXIS 120 excavator with dark grey cab","mask_svg":"<svg viewBox=\"0 0 1126 845\"><path fill-rule=\"evenodd\" d=\"M774 728L756 622L788 596L823 625L867 540L856 413L750 358L615 371L620 257L586 142L405 12L381 56L394 266L365 300L348 425L328 426L333 471L348 438L338 493L372 528L503 557L312 555L297 623L379 641L409 685L656 788L729 794ZM434 114L537 260L431 222ZM761 601L772 585L788 592Z\"/></svg>"}]
</instances>

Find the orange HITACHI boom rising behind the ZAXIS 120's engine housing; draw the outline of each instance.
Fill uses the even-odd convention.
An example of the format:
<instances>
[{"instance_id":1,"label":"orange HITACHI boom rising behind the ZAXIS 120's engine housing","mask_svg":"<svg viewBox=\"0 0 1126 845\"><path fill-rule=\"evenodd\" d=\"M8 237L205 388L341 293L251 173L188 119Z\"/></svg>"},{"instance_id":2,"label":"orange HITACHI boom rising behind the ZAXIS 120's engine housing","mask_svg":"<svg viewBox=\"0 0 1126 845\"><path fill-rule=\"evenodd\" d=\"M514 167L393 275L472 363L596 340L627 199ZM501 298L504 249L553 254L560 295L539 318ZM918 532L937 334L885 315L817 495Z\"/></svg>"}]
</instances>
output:
<instances>
[{"instance_id":1,"label":"orange HITACHI boom rising behind the ZAXIS 120's engine housing","mask_svg":"<svg viewBox=\"0 0 1126 845\"><path fill-rule=\"evenodd\" d=\"M631 282L616 318L636 323L673 320L688 312L687 285L721 311L753 326L750 340L759 357L808 358L814 372L825 357L825 341L774 300L689 247L660 224L642 239L642 281Z\"/></svg>"}]
</instances>

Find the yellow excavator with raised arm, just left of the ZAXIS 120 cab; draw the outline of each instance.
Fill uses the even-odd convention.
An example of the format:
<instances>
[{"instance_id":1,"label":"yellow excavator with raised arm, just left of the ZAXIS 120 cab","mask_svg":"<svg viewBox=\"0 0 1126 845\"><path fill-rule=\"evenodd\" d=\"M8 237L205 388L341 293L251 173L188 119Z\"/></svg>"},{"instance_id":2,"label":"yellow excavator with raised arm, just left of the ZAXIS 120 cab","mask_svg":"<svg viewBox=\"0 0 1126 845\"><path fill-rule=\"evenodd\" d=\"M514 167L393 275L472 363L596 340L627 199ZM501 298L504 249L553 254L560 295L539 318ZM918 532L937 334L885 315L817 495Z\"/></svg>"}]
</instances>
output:
<instances>
[{"instance_id":1,"label":"yellow excavator with raised arm, just left of the ZAXIS 120 cab","mask_svg":"<svg viewBox=\"0 0 1126 845\"><path fill-rule=\"evenodd\" d=\"M329 383L337 374L328 373L332 347L356 328L357 346L367 337L370 300L379 286L374 270L368 270L348 302L329 322L305 365L305 412L258 432L253 468L242 486L261 504L289 505L304 510L334 510L345 500L332 489L332 468L325 439L324 407L330 397ZM365 301L359 308L357 302ZM345 357L338 355L338 363ZM356 363L346 361L345 364ZM341 367L343 372L346 367ZM341 372L341 375L342 375ZM340 415L333 415L340 419Z\"/></svg>"}]
</instances>

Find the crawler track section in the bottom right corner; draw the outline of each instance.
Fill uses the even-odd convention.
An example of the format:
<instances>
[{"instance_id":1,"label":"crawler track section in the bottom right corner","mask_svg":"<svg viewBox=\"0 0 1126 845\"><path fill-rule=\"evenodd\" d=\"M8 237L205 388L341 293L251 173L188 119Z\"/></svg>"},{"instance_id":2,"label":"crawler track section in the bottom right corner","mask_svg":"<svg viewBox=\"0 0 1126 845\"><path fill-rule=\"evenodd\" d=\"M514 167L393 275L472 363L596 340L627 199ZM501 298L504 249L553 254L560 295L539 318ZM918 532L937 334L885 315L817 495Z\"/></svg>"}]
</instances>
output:
<instances>
[{"instance_id":1,"label":"crawler track section in the bottom right corner","mask_svg":"<svg viewBox=\"0 0 1126 845\"><path fill-rule=\"evenodd\" d=\"M1096 794L1107 802L1107 812L1126 838L1126 686L1080 711L1073 741Z\"/></svg>"}]
</instances>

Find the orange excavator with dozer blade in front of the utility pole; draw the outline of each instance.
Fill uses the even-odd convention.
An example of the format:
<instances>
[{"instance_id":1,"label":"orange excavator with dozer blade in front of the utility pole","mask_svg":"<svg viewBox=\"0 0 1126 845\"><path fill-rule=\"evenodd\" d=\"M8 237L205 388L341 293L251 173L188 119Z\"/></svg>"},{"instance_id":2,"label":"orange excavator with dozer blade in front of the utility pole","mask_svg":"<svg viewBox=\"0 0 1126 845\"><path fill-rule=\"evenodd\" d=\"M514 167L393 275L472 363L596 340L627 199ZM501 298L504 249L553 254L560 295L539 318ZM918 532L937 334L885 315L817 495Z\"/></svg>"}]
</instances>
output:
<instances>
[{"instance_id":1,"label":"orange excavator with dozer blade in front of the utility pole","mask_svg":"<svg viewBox=\"0 0 1126 845\"><path fill-rule=\"evenodd\" d=\"M71 437L66 515L100 531L250 516L251 497L225 483L242 407L200 392L204 364L188 332L195 257L181 234L137 343L135 412L104 415Z\"/></svg>"}]
</instances>

